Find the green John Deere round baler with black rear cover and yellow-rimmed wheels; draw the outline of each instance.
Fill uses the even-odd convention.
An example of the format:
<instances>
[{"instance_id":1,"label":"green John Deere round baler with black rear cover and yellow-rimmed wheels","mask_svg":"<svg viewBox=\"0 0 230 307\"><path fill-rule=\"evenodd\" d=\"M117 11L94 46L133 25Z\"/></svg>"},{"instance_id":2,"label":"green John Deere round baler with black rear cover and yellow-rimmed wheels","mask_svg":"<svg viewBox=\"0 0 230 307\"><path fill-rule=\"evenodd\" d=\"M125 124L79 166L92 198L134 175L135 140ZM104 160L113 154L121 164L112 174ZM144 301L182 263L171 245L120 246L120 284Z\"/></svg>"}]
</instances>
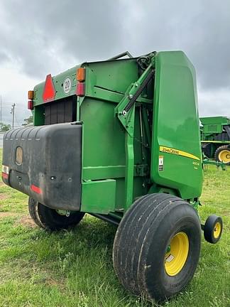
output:
<instances>
[{"instance_id":1,"label":"green John Deere round baler with black rear cover and yellow-rimmed wheels","mask_svg":"<svg viewBox=\"0 0 230 307\"><path fill-rule=\"evenodd\" d=\"M129 55L129 53L127 53ZM82 63L28 92L34 126L4 136L4 183L47 230L84 213L118 225L121 284L147 298L180 292L199 260L202 161L195 70L181 51Z\"/></svg>"}]
</instances>

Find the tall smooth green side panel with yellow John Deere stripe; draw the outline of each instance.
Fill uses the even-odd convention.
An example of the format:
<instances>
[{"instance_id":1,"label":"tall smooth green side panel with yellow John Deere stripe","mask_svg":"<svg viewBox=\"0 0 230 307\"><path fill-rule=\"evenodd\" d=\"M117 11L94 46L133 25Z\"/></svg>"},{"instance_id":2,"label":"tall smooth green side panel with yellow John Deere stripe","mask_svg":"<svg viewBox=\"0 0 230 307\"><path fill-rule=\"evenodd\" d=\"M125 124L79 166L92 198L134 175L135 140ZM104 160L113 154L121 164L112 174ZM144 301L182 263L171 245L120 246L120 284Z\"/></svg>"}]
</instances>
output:
<instances>
[{"instance_id":1,"label":"tall smooth green side panel with yellow John Deere stripe","mask_svg":"<svg viewBox=\"0 0 230 307\"><path fill-rule=\"evenodd\" d=\"M202 192L195 70L181 51L155 59L151 179L184 198Z\"/></svg>"}]
</instances>

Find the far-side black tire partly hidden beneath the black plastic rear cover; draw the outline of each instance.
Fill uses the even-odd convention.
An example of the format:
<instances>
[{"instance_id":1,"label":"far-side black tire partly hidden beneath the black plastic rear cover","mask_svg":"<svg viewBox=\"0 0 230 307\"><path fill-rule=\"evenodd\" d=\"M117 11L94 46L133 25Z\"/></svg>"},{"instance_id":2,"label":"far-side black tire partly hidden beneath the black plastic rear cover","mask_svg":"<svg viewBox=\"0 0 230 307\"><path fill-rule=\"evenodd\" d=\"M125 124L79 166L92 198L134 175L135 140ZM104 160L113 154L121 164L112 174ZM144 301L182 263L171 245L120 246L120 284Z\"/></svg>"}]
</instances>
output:
<instances>
[{"instance_id":1,"label":"far-side black tire partly hidden beneath the black plastic rear cover","mask_svg":"<svg viewBox=\"0 0 230 307\"><path fill-rule=\"evenodd\" d=\"M28 199L28 210L35 224L45 230L67 229L77 225L84 217L83 212L72 212L69 217L60 215L56 210L38 203L33 198Z\"/></svg>"}]
</instances>

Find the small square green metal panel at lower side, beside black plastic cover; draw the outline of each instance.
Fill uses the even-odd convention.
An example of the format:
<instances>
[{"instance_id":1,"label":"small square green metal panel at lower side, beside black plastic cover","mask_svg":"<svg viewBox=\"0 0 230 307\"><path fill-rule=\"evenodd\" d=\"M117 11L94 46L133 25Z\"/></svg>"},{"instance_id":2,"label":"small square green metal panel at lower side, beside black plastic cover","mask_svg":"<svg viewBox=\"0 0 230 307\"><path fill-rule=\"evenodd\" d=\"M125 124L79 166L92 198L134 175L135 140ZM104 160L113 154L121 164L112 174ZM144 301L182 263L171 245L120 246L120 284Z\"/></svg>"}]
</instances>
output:
<instances>
[{"instance_id":1,"label":"small square green metal panel at lower side, beside black plastic cover","mask_svg":"<svg viewBox=\"0 0 230 307\"><path fill-rule=\"evenodd\" d=\"M108 214L115 208L116 181L87 181L82 183L83 212Z\"/></svg>"}]
</instances>

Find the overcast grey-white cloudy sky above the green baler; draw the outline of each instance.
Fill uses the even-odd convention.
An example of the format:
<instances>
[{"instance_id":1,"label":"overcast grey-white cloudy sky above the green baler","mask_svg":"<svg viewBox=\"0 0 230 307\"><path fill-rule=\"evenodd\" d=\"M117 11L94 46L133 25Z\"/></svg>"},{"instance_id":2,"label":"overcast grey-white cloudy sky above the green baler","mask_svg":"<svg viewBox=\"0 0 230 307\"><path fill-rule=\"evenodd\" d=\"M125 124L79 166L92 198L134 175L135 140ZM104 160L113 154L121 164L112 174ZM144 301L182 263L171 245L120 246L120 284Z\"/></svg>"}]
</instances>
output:
<instances>
[{"instance_id":1,"label":"overcast grey-white cloudy sky above the green baler","mask_svg":"<svg viewBox=\"0 0 230 307\"><path fill-rule=\"evenodd\" d=\"M184 50L197 70L200 116L230 117L229 0L0 0L2 120L30 115L27 92L85 60L124 50Z\"/></svg>"}]
</instances>

